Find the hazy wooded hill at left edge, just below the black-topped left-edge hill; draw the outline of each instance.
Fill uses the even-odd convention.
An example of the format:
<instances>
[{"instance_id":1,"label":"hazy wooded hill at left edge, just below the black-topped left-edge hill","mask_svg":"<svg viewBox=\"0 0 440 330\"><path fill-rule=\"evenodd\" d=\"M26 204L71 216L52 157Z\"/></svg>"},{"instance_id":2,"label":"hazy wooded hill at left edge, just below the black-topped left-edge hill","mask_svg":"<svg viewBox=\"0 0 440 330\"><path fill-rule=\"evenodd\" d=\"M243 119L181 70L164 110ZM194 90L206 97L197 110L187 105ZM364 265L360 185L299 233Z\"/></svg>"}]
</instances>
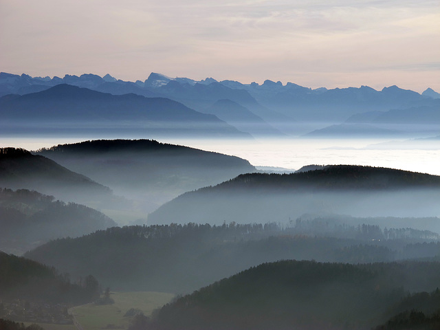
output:
<instances>
[{"instance_id":1,"label":"hazy wooded hill at left edge, just below the black-topped left-edge hill","mask_svg":"<svg viewBox=\"0 0 440 330\"><path fill-rule=\"evenodd\" d=\"M23 254L62 237L76 237L116 225L101 212L56 201L31 190L0 188L0 250Z\"/></svg>"}]
</instances>

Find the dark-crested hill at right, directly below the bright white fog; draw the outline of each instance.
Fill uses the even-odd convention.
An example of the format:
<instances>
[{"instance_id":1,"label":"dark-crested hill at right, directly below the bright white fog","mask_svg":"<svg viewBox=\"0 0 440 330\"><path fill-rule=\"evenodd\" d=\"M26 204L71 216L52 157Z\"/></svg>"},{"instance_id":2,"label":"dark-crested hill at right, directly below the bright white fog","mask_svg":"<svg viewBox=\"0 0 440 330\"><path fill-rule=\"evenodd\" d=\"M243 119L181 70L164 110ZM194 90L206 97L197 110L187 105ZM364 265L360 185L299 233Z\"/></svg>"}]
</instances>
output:
<instances>
[{"instance_id":1,"label":"dark-crested hill at right, directly below the bright white fog","mask_svg":"<svg viewBox=\"0 0 440 330\"><path fill-rule=\"evenodd\" d=\"M173 199L149 214L148 223L283 223L306 212L429 217L439 214L439 198L440 177L436 175L370 166L325 166L289 175L239 175Z\"/></svg>"}]
</instances>

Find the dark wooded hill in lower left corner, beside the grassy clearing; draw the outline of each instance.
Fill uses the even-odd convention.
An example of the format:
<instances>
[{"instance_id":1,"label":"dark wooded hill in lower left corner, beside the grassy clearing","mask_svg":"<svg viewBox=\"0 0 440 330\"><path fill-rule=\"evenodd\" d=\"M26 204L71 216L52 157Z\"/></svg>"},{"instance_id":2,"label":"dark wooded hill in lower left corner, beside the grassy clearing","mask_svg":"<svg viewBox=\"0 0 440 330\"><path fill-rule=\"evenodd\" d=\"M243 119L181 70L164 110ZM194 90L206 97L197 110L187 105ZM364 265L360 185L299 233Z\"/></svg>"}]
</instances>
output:
<instances>
[{"instance_id":1,"label":"dark wooded hill in lower left corner, beside the grassy clearing","mask_svg":"<svg viewBox=\"0 0 440 330\"><path fill-rule=\"evenodd\" d=\"M99 283L89 275L71 283L53 267L0 251L0 296L45 303L89 303L100 295Z\"/></svg>"}]
</instances>

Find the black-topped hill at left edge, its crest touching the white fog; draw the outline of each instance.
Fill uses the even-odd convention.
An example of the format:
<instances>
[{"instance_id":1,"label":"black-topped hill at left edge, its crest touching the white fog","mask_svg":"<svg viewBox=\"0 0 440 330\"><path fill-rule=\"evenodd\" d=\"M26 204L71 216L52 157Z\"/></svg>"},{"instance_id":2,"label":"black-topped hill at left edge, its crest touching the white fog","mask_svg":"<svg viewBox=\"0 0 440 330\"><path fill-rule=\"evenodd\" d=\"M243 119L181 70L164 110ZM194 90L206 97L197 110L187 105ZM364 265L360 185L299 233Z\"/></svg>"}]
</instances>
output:
<instances>
[{"instance_id":1,"label":"black-topped hill at left edge, its crest touching the white fog","mask_svg":"<svg viewBox=\"0 0 440 330\"><path fill-rule=\"evenodd\" d=\"M0 187L37 190L65 201L111 197L111 190L52 159L22 148L0 148Z\"/></svg>"}]
</instances>

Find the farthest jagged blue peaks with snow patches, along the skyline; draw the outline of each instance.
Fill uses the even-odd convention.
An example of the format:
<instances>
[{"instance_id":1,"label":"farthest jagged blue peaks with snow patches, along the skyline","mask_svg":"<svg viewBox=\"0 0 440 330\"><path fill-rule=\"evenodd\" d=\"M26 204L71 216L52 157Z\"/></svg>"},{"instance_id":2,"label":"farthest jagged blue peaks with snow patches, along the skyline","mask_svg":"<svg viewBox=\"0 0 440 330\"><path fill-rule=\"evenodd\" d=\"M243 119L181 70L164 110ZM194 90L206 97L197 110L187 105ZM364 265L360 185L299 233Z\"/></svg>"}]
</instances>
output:
<instances>
[{"instance_id":1,"label":"farthest jagged blue peaks with snow patches, along the skyline","mask_svg":"<svg viewBox=\"0 0 440 330\"><path fill-rule=\"evenodd\" d=\"M201 111L222 99L232 100L247 107L277 129L289 133L301 132L293 120L328 121L338 124L349 116L366 111L388 111L409 107L421 107L435 98L437 94L427 89L420 95L414 91L399 89L396 86L384 87L376 91L371 87L349 87L343 89L310 89L294 83L283 85L265 80L265 83L241 84L232 80L217 82L212 78L192 80L190 78L170 78L152 73L144 82L115 80L111 76L101 78L93 74L32 78L25 74L18 76L0 74L0 95L8 93L24 94L40 91L43 87L69 83L111 94L133 93L142 96L162 96L183 102L186 106ZM282 125L287 121L289 125ZM277 126L278 125L278 126ZM283 128L283 129L282 129ZM321 127L322 128L322 127Z\"/></svg>"}]
</instances>

